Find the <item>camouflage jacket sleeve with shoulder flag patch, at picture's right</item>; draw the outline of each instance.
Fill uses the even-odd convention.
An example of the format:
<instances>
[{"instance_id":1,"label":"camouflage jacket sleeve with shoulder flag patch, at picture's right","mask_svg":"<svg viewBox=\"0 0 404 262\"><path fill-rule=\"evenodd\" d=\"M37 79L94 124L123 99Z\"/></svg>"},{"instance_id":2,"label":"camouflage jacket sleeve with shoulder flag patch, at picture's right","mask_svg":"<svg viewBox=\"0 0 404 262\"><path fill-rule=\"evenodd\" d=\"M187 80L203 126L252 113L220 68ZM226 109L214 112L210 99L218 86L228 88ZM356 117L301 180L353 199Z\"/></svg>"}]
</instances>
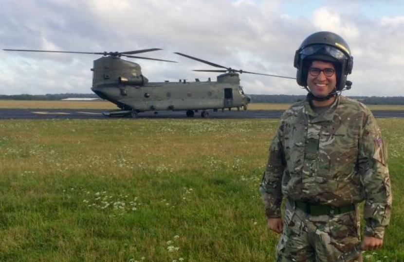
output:
<instances>
[{"instance_id":1,"label":"camouflage jacket sleeve with shoulder flag patch, at picture's right","mask_svg":"<svg viewBox=\"0 0 404 262\"><path fill-rule=\"evenodd\" d=\"M364 120L359 148L358 164L366 194L364 234L383 239L385 228L390 222L392 194L386 143L370 112Z\"/></svg>"}]
</instances>

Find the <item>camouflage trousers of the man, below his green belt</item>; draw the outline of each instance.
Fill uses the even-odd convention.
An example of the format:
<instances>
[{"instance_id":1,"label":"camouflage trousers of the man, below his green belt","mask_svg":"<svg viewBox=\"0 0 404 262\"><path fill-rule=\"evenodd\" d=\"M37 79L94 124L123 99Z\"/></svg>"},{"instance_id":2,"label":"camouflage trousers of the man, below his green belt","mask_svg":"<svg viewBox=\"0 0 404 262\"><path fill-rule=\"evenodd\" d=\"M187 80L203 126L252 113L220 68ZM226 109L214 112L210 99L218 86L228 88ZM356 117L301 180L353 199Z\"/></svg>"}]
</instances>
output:
<instances>
[{"instance_id":1,"label":"camouflage trousers of the man, below his green belt","mask_svg":"<svg viewBox=\"0 0 404 262\"><path fill-rule=\"evenodd\" d=\"M310 215L285 203L283 232L276 246L275 262L332 262L360 241L356 210L341 214ZM351 262L362 262L362 254Z\"/></svg>"}]
</instances>

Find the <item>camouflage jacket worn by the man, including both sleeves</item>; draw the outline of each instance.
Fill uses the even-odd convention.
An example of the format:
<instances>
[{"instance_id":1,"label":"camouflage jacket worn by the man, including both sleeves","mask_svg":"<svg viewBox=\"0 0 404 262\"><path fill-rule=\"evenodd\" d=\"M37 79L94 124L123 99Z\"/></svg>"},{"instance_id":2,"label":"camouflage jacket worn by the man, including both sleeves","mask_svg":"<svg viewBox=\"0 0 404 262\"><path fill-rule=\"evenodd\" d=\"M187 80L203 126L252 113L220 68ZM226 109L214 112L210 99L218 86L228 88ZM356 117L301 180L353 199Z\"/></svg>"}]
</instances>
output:
<instances>
[{"instance_id":1,"label":"camouflage jacket worn by the man, including both sleeves","mask_svg":"<svg viewBox=\"0 0 404 262\"><path fill-rule=\"evenodd\" d=\"M322 115L294 103L280 118L260 186L267 217L280 217L283 196L344 206L365 200L365 234L383 238L391 189L386 144L362 103L340 96Z\"/></svg>"}]
</instances>

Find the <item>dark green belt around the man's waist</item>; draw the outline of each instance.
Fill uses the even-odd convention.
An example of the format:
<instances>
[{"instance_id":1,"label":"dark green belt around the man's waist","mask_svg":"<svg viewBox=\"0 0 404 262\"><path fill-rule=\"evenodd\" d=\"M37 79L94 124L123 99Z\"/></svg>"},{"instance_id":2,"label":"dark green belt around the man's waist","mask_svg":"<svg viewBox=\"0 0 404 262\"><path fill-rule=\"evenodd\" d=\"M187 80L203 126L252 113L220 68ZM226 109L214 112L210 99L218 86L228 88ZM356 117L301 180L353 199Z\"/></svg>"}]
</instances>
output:
<instances>
[{"instance_id":1,"label":"dark green belt around the man's waist","mask_svg":"<svg viewBox=\"0 0 404 262\"><path fill-rule=\"evenodd\" d=\"M310 215L332 215L342 214L355 210L354 204L349 204L341 207L334 207L329 205L311 204L308 202L294 201L296 208L310 214Z\"/></svg>"}]
</instances>

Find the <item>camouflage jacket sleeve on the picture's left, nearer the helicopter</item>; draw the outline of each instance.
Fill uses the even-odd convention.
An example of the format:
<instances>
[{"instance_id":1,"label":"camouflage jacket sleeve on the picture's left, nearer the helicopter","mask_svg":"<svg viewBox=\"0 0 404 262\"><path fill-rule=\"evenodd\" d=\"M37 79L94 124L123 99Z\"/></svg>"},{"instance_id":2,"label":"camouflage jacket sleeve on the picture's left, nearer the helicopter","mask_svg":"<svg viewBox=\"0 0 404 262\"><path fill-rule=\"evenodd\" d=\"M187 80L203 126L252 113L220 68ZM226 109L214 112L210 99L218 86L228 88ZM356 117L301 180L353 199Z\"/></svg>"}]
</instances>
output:
<instances>
[{"instance_id":1,"label":"camouflage jacket sleeve on the picture's left, nearer the helicopter","mask_svg":"<svg viewBox=\"0 0 404 262\"><path fill-rule=\"evenodd\" d=\"M282 127L279 126L269 147L269 157L265 172L259 187L265 214L268 218L281 217L282 203L281 182L285 168L285 158L282 147Z\"/></svg>"}]
</instances>

